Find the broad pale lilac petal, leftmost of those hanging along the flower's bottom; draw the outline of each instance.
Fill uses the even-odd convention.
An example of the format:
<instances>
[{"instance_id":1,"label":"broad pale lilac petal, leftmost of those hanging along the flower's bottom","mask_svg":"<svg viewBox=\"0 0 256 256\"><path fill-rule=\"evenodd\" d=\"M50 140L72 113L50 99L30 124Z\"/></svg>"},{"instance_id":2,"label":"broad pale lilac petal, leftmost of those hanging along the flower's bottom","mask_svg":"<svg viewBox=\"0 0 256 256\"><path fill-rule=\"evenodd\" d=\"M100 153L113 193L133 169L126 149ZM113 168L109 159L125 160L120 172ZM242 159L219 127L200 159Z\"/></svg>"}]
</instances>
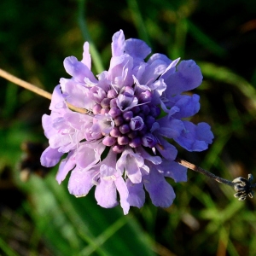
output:
<instances>
[{"instance_id":1,"label":"broad pale lilac petal, leftmost of those hanging along the flower's bottom","mask_svg":"<svg viewBox=\"0 0 256 256\"><path fill-rule=\"evenodd\" d=\"M68 191L77 197L85 196L93 187L92 183L95 172L74 169L68 181Z\"/></svg>"}]
</instances>

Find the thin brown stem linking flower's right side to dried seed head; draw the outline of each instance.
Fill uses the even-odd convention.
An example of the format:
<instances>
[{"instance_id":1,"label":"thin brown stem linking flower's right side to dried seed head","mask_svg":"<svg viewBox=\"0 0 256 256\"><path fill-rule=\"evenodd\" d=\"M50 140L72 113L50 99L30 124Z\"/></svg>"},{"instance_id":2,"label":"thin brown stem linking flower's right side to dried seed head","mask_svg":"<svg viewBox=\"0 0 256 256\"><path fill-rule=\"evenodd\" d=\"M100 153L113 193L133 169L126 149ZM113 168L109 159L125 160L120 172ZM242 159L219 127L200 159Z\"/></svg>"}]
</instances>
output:
<instances>
[{"instance_id":1,"label":"thin brown stem linking flower's right side to dried seed head","mask_svg":"<svg viewBox=\"0 0 256 256\"><path fill-rule=\"evenodd\" d=\"M182 159L177 158L175 161L178 164L180 164L181 166L187 167L192 171L200 172L201 174L206 175L207 177L211 177L212 179L214 179L218 183L224 183L224 184L229 185L231 187L234 187L236 185L236 183L231 182L231 181L229 181L229 180L227 180L223 177L218 177L218 176L214 175L212 172L208 172L207 170L201 168L200 166L195 166L194 164L191 164L186 160L182 160Z\"/></svg>"}]
</instances>

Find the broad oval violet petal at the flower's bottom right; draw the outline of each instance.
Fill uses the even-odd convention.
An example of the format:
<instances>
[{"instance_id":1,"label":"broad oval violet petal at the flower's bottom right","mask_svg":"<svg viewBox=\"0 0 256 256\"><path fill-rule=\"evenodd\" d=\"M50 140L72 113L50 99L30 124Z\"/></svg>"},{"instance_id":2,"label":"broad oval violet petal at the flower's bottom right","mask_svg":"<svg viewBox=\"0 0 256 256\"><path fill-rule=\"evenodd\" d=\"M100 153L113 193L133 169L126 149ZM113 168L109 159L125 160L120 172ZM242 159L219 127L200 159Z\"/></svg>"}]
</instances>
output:
<instances>
[{"instance_id":1,"label":"broad oval violet petal at the flower's bottom right","mask_svg":"<svg viewBox=\"0 0 256 256\"><path fill-rule=\"evenodd\" d=\"M145 189L156 207L170 207L175 198L172 186L166 182L163 174L158 172L154 166L150 166L150 172L143 177Z\"/></svg>"}]
</instances>

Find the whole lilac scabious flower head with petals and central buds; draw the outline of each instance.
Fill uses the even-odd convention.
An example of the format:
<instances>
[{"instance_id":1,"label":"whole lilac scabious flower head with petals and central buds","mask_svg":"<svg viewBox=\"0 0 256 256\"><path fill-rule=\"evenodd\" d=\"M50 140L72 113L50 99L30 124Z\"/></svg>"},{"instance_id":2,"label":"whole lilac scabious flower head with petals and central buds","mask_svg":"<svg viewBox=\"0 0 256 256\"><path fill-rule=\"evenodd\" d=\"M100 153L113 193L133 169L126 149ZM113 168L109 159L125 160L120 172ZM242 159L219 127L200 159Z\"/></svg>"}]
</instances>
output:
<instances>
[{"instance_id":1,"label":"whole lilac scabious flower head with petals and central buds","mask_svg":"<svg viewBox=\"0 0 256 256\"><path fill-rule=\"evenodd\" d=\"M69 192L77 197L95 189L97 203L124 213L143 207L145 190L157 207L169 207L175 193L166 177L187 180L186 168L174 161L178 143L189 151L202 151L212 143L206 123L194 125L188 118L200 109L198 95L183 92L201 84L195 61L171 61L151 55L142 40L125 40L123 31L113 35L108 71L96 77L90 71L89 44L82 61L71 56L64 67L71 79L55 87L43 127L49 147L43 166L55 166L63 154L56 179L71 172ZM67 108L67 102L88 113ZM118 196L119 194L119 196Z\"/></svg>"}]
</instances>

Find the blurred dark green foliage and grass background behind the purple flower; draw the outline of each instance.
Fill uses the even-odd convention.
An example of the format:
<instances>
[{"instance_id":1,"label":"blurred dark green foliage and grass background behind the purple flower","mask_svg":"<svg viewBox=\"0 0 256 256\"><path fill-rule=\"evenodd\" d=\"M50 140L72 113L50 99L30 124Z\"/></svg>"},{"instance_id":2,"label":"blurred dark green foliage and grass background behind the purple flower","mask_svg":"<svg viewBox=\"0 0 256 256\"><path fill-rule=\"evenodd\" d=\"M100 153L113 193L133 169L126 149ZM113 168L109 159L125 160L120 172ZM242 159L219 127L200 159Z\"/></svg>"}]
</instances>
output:
<instances>
[{"instance_id":1,"label":"blurred dark green foliage and grass background behind the purple flower","mask_svg":"<svg viewBox=\"0 0 256 256\"><path fill-rule=\"evenodd\" d=\"M0 2L0 68L52 91L68 77L62 61L81 59L90 41L93 70L108 68L114 32L141 38L171 59L194 59L204 81L195 90L201 111L193 121L212 125L203 153L179 156L221 177L255 176L255 1L127 0ZM255 255L255 200L189 172L172 183L167 209L149 200L123 216L96 206L93 192L76 199L67 182L20 181L21 143L47 143L41 127L49 101L0 79L0 254L3 255ZM24 157L24 156L23 156Z\"/></svg>"}]
</instances>

